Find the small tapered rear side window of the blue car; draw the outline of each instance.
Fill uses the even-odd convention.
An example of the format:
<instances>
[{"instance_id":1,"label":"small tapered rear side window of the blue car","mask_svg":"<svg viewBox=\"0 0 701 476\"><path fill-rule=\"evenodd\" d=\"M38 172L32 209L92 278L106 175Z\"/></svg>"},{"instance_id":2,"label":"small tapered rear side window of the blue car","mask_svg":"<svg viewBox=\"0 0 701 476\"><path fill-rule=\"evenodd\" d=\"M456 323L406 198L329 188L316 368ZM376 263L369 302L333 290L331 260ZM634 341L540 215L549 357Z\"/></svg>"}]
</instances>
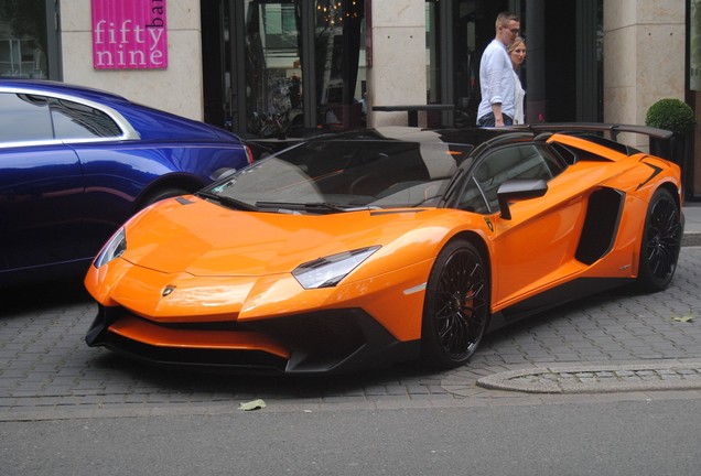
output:
<instances>
[{"instance_id":1,"label":"small tapered rear side window of the blue car","mask_svg":"<svg viewBox=\"0 0 701 476\"><path fill-rule=\"evenodd\" d=\"M51 118L58 139L118 138L119 126L105 112L65 99L51 100Z\"/></svg>"}]
</instances>

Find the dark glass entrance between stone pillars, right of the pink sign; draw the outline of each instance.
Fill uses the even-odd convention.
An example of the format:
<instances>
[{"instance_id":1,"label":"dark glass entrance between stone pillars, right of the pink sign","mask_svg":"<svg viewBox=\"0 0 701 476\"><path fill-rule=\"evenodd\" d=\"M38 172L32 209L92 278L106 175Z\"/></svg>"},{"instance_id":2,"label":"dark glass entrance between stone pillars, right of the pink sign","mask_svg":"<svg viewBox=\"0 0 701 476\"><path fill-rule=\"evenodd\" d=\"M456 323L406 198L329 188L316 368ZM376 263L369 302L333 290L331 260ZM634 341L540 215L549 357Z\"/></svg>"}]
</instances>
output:
<instances>
[{"instance_id":1,"label":"dark glass entrance between stone pillars, right of the pink sign","mask_svg":"<svg viewBox=\"0 0 701 476\"><path fill-rule=\"evenodd\" d=\"M364 1L201 4L206 121L246 139L364 123Z\"/></svg>"}]
</instances>

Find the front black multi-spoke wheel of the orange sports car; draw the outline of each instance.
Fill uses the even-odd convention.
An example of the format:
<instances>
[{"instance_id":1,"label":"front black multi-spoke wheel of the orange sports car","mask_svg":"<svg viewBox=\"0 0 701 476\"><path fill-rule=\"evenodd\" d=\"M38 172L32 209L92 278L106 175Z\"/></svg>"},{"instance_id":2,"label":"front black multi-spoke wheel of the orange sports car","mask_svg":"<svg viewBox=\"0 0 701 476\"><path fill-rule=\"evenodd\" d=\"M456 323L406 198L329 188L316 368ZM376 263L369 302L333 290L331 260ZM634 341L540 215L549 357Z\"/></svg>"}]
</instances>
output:
<instances>
[{"instance_id":1,"label":"front black multi-spoke wheel of the orange sports car","mask_svg":"<svg viewBox=\"0 0 701 476\"><path fill-rule=\"evenodd\" d=\"M464 365L489 320L489 273L482 253L457 239L441 250L427 285L421 329L424 360L441 368Z\"/></svg>"}]
</instances>

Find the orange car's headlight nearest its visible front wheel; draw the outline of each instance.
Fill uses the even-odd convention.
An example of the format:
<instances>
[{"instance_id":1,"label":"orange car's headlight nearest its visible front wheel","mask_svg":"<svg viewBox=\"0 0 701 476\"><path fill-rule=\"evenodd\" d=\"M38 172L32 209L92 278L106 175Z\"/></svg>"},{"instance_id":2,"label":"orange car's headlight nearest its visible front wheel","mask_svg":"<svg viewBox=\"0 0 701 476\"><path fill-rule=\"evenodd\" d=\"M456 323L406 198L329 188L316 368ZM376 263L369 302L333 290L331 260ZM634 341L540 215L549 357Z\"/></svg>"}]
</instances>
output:
<instances>
[{"instance_id":1,"label":"orange car's headlight nearest its visible front wheel","mask_svg":"<svg viewBox=\"0 0 701 476\"><path fill-rule=\"evenodd\" d=\"M319 258L300 264L292 274L304 289L331 288L378 249L379 246L374 246Z\"/></svg>"}]
</instances>

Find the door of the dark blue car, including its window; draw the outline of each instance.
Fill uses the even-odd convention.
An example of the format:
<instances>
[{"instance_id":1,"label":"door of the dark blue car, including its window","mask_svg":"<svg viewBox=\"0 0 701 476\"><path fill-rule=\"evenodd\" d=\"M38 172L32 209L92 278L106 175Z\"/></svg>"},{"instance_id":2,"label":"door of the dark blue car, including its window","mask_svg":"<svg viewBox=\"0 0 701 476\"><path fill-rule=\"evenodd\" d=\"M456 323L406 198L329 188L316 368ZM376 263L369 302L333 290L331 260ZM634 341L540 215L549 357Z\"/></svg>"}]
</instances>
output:
<instances>
[{"instance_id":1,"label":"door of the dark blue car, including its window","mask_svg":"<svg viewBox=\"0 0 701 476\"><path fill-rule=\"evenodd\" d=\"M0 273L75 258L84 183L54 139L50 100L0 91Z\"/></svg>"}]
</instances>

